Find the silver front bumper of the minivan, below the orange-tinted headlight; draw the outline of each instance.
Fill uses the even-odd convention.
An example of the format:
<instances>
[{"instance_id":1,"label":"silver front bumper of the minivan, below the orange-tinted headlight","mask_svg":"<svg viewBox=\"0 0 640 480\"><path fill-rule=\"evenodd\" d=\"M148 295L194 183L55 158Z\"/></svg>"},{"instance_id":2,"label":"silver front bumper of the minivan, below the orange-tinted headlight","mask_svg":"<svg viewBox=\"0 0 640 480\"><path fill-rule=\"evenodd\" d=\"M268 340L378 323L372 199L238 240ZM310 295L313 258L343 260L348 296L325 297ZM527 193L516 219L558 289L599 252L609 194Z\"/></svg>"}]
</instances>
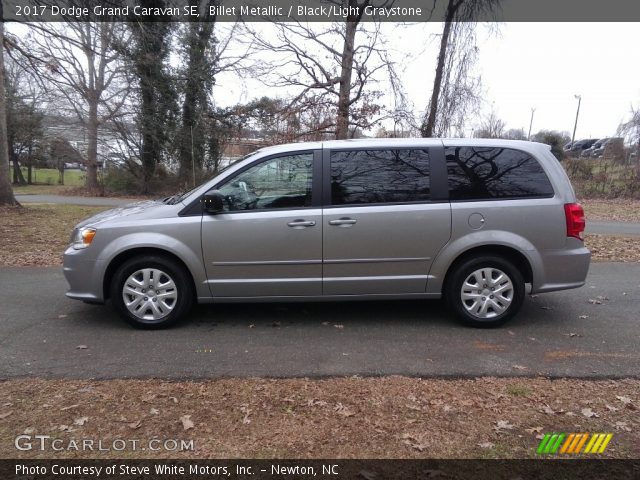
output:
<instances>
[{"instance_id":1,"label":"silver front bumper of the minivan, below the orange-tinted headlight","mask_svg":"<svg viewBox=\"0 0 640 480\"><path fill-rule=\"evenodd\" d=\"M63 272L69 283L66 296L74 300L104 303L101 262L86 259L86 251L69 247L64 252Z\"/></svg>"}]
</instances>

